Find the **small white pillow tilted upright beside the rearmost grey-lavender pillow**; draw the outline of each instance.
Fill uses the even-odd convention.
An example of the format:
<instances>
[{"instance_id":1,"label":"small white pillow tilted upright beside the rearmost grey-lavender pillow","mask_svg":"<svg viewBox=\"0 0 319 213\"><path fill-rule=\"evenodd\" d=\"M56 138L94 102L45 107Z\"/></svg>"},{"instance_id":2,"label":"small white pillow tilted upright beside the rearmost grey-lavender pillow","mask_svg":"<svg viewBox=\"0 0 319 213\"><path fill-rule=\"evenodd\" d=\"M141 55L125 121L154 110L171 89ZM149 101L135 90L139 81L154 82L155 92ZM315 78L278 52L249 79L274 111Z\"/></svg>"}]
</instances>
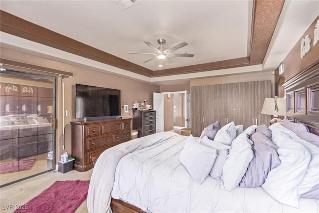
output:
<instances>
[{"instance_id":1,"label":"small white pillow tilted upright beside the rearmost grey-lavender pillow","mask_svg":"<svg viewBox=\"0 0 319 213\"><path fill-rule=\"evenodd\" d=\"M231 145L231 142L236 138L236 127L235 123L232 121L229 124L223 126L220 130L218 130L214 141L220 142L222 144Z\"/></svg>"}]
</instances>

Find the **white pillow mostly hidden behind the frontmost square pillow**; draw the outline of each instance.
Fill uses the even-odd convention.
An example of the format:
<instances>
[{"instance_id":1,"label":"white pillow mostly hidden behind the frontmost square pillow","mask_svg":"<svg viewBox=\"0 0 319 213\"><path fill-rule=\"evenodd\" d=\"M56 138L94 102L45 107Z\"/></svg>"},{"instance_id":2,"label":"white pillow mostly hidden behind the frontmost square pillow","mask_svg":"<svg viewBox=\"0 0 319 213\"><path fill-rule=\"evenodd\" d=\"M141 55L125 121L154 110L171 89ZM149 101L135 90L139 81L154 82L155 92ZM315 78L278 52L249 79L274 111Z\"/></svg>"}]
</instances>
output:
<instances>
[{"instance_id":1,"label":"white pillow mostly hidden behind the frontmost square pillow","mask_svg":"<svg viewBox=\"0 0 319 213\"><path fill-rule=\"evenodd\" d=\"M230 146L224 145L224 144L219 143L219 142L212 141L212 140L208 139L208 137L206 137L206 136L201 139L200 143L202 145L205 145L207 147L210 147L210 148L217 150L217 157L216 157L216 160L215 160L213 167L211 168L211 170L209 172L209 175L211 177L213 177L214 179L219 180L223 174L223 167L224 167L225 161L227 159L228 150L229 150Z\"/></svg>"}]
</instances>

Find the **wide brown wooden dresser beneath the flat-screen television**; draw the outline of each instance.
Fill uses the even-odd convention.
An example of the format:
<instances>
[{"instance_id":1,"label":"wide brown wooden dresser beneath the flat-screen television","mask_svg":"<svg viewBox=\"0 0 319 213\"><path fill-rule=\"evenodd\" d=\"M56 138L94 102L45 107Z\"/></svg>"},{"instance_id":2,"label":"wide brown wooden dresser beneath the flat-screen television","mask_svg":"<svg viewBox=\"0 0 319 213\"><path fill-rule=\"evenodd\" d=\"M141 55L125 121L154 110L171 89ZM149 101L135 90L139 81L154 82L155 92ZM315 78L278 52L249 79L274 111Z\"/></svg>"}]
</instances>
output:
<instances>
[{"instance_id":1,"label":"wide brown wooden dresser beneath the flat-screen television","mask_svg":"<svg viewBox=\"0 0 319 213\"><path fill-rule=\"evenodd\" d=\"M132 118L70 122L74 169L85 172L93 168L104 150L131 140L131 121Z\"/></svg>"}]
</instances>

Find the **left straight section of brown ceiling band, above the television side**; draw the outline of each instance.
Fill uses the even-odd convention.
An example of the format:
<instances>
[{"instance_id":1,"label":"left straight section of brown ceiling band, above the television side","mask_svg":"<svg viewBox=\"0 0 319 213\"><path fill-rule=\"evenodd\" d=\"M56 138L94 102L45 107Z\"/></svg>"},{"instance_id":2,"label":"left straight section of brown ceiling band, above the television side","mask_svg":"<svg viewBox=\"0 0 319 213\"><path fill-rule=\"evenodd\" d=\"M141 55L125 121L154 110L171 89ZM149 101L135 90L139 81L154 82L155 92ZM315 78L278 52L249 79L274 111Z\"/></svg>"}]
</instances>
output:
<instances>
[{"instance_id":1,"label":"left straight section of brown ceiling band, above the television side","mask_svg":"<svg viewBox=\"0 0 319 213\"><path fill-rule=\"evenodd\" d=\"M0 30L21 38L60 49L101 63L150 77L152 70L46 29L0 10Z\"/></svg>"}]
</instances>

